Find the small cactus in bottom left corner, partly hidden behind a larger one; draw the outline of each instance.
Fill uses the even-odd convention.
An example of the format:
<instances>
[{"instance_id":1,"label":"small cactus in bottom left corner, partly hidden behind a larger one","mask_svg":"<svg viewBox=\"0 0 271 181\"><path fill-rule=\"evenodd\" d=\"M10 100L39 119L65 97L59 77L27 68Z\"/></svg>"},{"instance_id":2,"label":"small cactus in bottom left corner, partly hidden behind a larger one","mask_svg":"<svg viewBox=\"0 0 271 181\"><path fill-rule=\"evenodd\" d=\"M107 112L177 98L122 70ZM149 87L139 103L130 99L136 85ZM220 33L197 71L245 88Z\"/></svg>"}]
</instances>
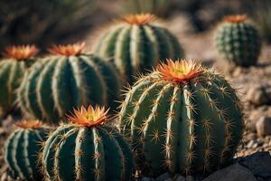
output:
<instances>
[{"instance_id":1,"label":"small cactus in bottom left corner, partly hidden behind a larger one","mask_svg":"<svg viewBox=\"0 0 271 181\"><path fill-rule=\"evenodd\" d=\"M40 143L46 140L50 129L42 126L39 121L23 120L16 124L19 129L5 143L5 162L11 175L22 180L42 180L39 172L38 153L42 148Z\"/></svg>"}]
</instances>

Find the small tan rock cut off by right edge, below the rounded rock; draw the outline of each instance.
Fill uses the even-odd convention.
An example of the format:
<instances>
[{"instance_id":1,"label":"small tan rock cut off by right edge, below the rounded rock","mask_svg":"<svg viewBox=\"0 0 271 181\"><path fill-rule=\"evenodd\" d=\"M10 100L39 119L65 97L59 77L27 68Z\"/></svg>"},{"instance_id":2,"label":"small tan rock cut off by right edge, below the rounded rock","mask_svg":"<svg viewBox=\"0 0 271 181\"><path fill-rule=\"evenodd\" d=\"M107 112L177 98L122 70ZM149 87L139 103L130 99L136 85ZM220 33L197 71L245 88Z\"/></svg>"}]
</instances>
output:
<instances>
[{"instance_id":1,"label":"small tan rock cut off by right edge, below the rounded rock","mask_svg":"<svg viewBox=\"0 0 271 181\"><path fill-rule=\"evenodd\" d=\"M256 123L257 135L264 137L271 135L271 117L262 116Z\"/></svg>"}]
</instances>

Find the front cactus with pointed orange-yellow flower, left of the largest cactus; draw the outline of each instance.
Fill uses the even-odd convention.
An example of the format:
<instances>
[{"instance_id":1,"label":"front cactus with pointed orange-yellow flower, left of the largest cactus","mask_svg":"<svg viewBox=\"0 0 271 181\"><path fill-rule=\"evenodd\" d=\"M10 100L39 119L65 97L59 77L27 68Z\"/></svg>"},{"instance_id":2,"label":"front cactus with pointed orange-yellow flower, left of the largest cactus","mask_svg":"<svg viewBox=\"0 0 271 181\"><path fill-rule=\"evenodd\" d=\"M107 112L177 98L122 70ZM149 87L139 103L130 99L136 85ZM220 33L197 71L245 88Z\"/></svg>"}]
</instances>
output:
<instances>
[{"instance_id":1,"label":"front cactus with pointed orange-yellow flower, left of the largest cactus","mask_svg":"<svg viewBox=\"0 0 271 181\"><path fill-rule=\"evenodd\" d=\"M104 125L105 108L81 107L71 123L56 129L42 151L48 180L129 180L133 157L117 129Z\"/></svg>"}]
</instances>

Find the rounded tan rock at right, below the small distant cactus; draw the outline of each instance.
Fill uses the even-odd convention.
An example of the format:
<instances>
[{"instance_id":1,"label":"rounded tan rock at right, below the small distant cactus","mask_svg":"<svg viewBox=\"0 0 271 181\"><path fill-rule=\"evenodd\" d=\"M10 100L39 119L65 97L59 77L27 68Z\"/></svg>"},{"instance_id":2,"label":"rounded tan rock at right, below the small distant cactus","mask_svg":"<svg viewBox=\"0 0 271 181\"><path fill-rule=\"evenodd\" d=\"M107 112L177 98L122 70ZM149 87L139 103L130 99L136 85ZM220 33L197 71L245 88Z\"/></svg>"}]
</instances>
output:
<instances>
[{"instance_id":1,"label":"rounded tan rock at right, below the small distant cactus","mask_svg":"<svg viewBox=\"0 0 271 181\"><path fill-rule=\"evenodd\" d=\"M269 101L263 86L251 87L246 96L246 100L255 104L256 106L264 105Z\"/></svg>"}]
</instances>

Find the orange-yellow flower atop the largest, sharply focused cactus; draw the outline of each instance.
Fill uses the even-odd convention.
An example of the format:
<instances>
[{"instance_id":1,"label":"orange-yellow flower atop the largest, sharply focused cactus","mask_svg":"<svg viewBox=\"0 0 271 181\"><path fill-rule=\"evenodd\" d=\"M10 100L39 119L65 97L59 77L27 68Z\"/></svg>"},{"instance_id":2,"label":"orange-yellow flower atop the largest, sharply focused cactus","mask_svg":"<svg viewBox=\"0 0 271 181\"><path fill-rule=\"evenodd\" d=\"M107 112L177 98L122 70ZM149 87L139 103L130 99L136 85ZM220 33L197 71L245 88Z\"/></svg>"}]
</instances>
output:
<instances>
[{"instance_id":1,"label":"orange-yellow flower atop the largest, sharply focused cactus","mask_svg":"<svg viewBox=\"0 0 271 181\"><path fill-rule=\"evenodd\" d=\"M166 64L161 63L158 65L157 71L166 81L176 81L186 84L193 78L199 77L205 69L201 66L201 63L192 60L179 60L175 62L167 60Z\"/></svg>"}]
</instances>

